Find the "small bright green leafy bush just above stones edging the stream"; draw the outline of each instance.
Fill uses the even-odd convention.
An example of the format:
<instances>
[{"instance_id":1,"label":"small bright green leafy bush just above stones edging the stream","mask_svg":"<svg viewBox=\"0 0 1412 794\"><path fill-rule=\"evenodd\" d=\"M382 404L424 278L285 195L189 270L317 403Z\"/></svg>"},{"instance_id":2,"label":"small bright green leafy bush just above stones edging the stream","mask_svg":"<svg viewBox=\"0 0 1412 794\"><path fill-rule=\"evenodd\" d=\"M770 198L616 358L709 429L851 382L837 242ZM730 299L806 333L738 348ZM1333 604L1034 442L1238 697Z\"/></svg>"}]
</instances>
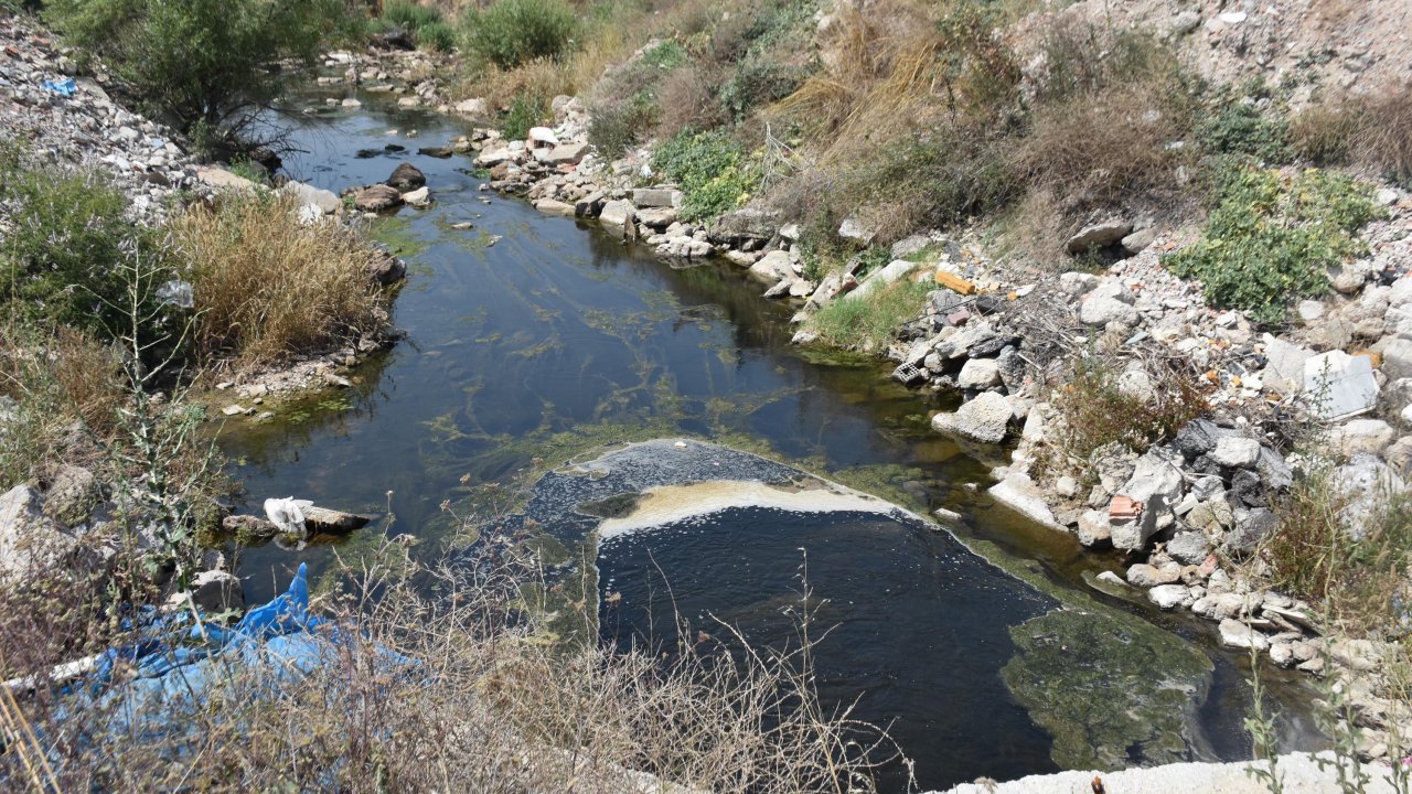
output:
<instances>
[{"instance_id":1,"label":"small bright green leafy bush just above stones edging the stream","mask_svg":"<svg viewBox=\"0 0 1412 794\"><path fill-rule=\"evenodd\" d=\"M686 220L716 218L760 189L760 164L723 130L682 130L657 147L652 170L681 185Z\"/></svg>"}]
</instances>

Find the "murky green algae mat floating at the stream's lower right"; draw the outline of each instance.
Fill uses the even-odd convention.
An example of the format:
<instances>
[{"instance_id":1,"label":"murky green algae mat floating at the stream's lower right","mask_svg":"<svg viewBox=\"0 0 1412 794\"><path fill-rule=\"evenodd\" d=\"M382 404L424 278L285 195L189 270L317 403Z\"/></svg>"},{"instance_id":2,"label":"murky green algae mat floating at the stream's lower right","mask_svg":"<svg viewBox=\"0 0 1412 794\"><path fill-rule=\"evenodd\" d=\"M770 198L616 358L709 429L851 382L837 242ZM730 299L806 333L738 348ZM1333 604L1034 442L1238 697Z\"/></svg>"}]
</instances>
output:
<instances>
[{"instance_id":1,"label":"murky green algae mat floating at the stream's lower right","mask_svg":"<svg viewBox=\"0 0 1412 794\"><path fill-rule=\"evenodd\" d=\"M1192 709L1211 664L1180 639L1117 610L1059 609L1011 627L1001 670L1015 701L1053 737L1062 769L1192 760Z\"/></svg>"}]
</instances>

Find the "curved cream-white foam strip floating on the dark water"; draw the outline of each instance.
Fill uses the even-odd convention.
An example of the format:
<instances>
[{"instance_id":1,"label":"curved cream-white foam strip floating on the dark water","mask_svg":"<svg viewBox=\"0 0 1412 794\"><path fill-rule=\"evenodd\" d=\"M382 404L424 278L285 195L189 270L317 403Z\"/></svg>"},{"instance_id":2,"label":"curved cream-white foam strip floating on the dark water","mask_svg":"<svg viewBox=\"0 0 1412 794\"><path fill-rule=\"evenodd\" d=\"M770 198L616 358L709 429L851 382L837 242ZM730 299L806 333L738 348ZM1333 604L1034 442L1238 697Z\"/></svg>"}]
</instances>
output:
<instances>
[{"instance_id":1,"label":"curved cream-white foam strip floating on the dark water","mask_svg":"<svg viewBox=\"0 0 1412 794\"><path fill-rule=\"evenodd\" d=\"M895 504L842 486L795 489L762 482L706 480L648 489L631 513L603 521L599 537L610 540L730 507L772 507L792 513L890 514L897 510Z\"/></svg>"}]
</instances>

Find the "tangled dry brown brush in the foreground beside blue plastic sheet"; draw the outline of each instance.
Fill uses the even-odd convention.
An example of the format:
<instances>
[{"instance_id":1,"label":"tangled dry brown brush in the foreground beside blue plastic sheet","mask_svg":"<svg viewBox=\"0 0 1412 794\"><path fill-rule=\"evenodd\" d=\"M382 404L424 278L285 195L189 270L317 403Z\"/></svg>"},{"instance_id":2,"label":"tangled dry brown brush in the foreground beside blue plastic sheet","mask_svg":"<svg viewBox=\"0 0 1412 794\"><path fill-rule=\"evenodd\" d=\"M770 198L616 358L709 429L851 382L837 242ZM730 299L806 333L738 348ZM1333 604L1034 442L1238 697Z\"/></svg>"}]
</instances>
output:
<instances>
[{"instance_id":1,"label":"tangled dry brown brush in the foreground beside blue plastic sheet","mask_svg":"<svg viewBox=\"0 0 1412 794\"><path fill-rule=\"evenodd\" d=\"M45 688L21 702L24 718L61 737L47 754L65 791L874 790L880 733L819 706L805 629L792 651L751 648L729 629L724 643L666 654L552 643L521 600L542 592L524 588L537 564L511 548L491 538L473 558L418 567L393 545L343 568L309 675L217 667L201 702L89 706L68 721ZM30 671L14 658L0 677ZM144 719L182 730L136 740ZM23 754L0 756L0 776L16 778Z\"/></svg>"}]
</instances>

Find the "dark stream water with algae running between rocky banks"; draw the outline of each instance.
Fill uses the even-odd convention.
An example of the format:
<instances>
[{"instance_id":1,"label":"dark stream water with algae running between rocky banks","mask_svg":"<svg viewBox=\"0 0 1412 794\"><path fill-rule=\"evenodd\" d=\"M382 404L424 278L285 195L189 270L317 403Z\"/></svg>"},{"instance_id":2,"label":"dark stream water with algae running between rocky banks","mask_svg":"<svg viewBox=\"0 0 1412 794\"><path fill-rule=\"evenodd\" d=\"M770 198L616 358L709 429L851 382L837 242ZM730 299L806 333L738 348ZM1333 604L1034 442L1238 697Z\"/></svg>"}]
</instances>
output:
<instances>
[{"instance_id":1,"label":"dark stream water with algae running between rocky banks","mask_svg":"<svg viewBox=\"0 0 1412 794\"><path fill-rule=\"evenodd\" d=\"M249 509L292 494L378 516L343 541L345 552L387 533L432 545L455 526L443 502L469 510L487 483L508 486L527 468L611 461L620 442L710 441L720 446L686 446L713 475L676 485L798 485L809 472L905 511L746 499L604 531L599 589L616 593L599 606L607 641L671 641L645 634L672 626L675 609L707 630L719 619L751 641L782 643L806 571L815 632L833 629L816 648L822 697L856 701L854 716L888 726L923 790L1250 757L1248 658L1217 648L1206 624L1093 589L1087 581L1120 569L1117 558L990 502L987 470L1003 452L962 448L929 428L929 413L955 407L955 396L907 390L877 360L791 346L792 309L761 298L738 268L674 267L593 223L481 191L469 155L418 155L469 131L453 119L398 109L387 95L326 109L325 96L289 100L291 110L319 109L282 122L304 150L285 158L291 177L337 192L409 161L435 205L374 226L408 261L394 308L407 339L354 370L352 389L223 431ZM387 144L405 151L369 157ZM474 227L452 227L462 222ZM661 461L645 465L654 482L628 469L682 445L634 449L623 473L633 489L674 485ZM563 476L548 475L531 507ZM963 520L943 528L922 519L940 506ZM566 543L596 523L572 503L544 509L539 519ZM318 576L332 552L244 550L247 599L282 589L299 562ZM1296 680L1268 675L1278 699L1308 699ZM1308 719L1285 711L1286 749L1309 749ZM899 791L901 770L882 784Z\"/></svg>"}]
</instances>

